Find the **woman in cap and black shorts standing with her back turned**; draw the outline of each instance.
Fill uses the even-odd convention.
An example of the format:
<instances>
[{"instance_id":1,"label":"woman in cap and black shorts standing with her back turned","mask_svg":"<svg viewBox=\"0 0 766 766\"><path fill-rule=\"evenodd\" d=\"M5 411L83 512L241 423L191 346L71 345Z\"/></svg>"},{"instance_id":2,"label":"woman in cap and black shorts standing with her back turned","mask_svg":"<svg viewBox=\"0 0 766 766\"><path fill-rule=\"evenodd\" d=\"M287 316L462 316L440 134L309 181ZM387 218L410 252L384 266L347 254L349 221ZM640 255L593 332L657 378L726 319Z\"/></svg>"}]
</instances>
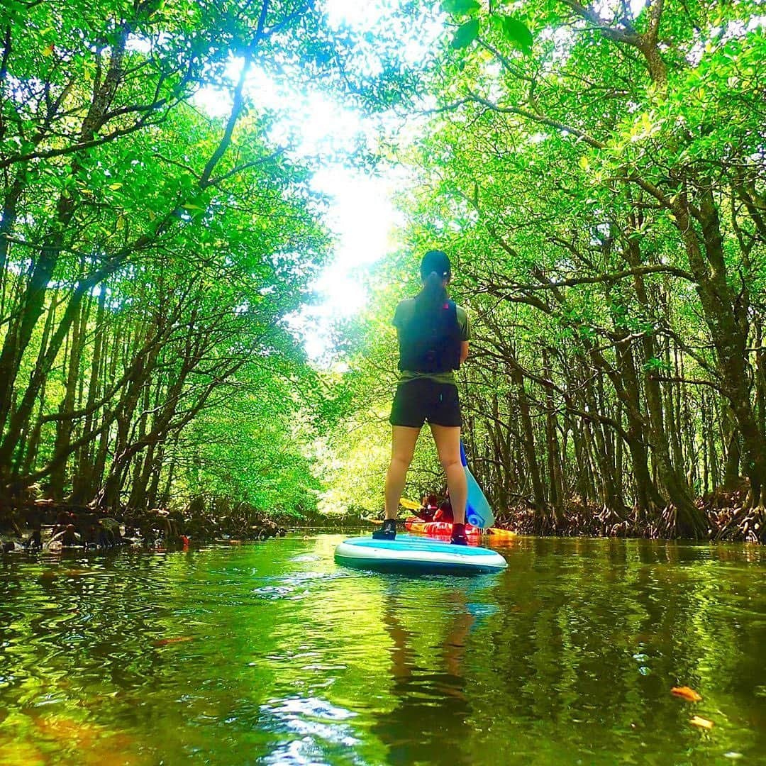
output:
<instances>
[{"instance_id":1,"label":"woman in cap and black shorts standing with her back turned","mask_svg":"<svg viewBox=\"0 0 766 766\"><path fill-rule=\"evenodd\" d=\"M396 514L417 436L427 421L447 474L453 509L452 542L466 545L466 473L460 463L460 399L455 372L466 361L470 326L465 310L447 296L450 259L429 250L421 262L423 287L394 312L399 338L399 383L391 407L391 463L385 480L385 522L372 533L396 537Z\"/></svg>"}]
</instances>

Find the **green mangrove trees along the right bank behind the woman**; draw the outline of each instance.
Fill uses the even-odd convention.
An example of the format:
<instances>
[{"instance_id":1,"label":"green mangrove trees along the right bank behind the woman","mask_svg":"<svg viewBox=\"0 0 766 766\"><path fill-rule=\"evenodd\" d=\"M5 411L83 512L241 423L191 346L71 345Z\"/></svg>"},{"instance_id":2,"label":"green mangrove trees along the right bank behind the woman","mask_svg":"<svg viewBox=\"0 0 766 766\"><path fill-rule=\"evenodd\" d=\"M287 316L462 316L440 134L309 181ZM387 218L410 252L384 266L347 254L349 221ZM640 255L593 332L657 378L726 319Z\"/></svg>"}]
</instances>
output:
<instances>
[{"instance_id":1,"label":"green mangrove trees along the right bank behind the woman","mask_svg":"<svg viewBox=\"0 0 766 766\"><path fill-rule=\"evenodd\" d=\"M538 532L574 513L762 537L762 5L442 8L425 127L395 148L416 181L374 282L365 397L390 396L393 307L441 247L473 317L466 439L497 508ZM733 518L709 514L718 489L744 499Z\"/></svg>"}]
</instances>

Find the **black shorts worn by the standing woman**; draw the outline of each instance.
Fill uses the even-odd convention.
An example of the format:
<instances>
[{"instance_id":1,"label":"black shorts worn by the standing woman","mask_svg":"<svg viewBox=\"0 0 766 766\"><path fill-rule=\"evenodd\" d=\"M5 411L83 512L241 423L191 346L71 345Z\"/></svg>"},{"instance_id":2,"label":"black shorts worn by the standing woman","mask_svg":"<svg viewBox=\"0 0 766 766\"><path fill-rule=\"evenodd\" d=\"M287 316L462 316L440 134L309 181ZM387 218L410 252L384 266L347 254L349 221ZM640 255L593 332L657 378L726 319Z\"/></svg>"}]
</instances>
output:
<instances>
[{"instance_id":1,"label":"black shorts worn by the standing woman","mask_svg":"<svg viewBox=\"0 0 766 766\"><path fill-rule=\"evenodd\" d=\"M457 385L414 378L396 387L388 422L392 426L420 428L425 421L437 426L463 425Z\"/></svg>"}]
</instances>

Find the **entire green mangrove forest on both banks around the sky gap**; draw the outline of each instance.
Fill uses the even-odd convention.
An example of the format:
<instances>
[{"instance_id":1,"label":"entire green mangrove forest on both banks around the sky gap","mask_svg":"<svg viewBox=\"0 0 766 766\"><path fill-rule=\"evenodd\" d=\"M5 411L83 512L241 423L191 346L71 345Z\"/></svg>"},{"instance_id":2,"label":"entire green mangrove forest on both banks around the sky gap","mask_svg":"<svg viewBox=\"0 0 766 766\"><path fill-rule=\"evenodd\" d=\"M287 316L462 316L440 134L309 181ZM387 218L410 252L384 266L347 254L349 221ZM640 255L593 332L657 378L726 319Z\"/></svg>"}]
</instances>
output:
<instances>
[{"instance_id":1,"label":"entire green mangrove forest on both banks around the sky gap","mask_svg":"<svg viewBox=\"0 0 766 766\"><path fill-rule=\"evenodd\" d=\"M760 2L391 0L366 27L300 0L0 7L6 508L378 511L391 316L439 247L500 518L762 537ZM255 72L379 116L345 161L406 178L334 372L291 325L329 201ZM411 495L442 488L429 450L416 469Z\"/></svg>"}]
</instances>

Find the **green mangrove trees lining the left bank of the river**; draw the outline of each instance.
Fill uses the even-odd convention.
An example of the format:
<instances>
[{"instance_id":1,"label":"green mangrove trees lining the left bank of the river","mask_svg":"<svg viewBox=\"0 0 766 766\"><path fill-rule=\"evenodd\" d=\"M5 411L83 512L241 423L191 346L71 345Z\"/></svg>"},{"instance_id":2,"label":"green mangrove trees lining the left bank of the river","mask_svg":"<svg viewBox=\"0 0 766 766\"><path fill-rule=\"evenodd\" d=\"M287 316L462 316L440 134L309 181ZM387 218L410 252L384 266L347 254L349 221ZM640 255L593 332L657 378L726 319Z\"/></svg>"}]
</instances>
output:
<instances>
[{"instance_id":1,"label":"green mangrove trees lining the left bank of the river","mask_svg":"<svg viewBox=\"0 0 766 766\"><path fill-rule=\"evenodd\" d=\"M326 203L251 74L386 106L395 47L298 0L5 0L0 21L0 513L310 508L319 387L287 320Z\"/></svg>"}]
</instances>

